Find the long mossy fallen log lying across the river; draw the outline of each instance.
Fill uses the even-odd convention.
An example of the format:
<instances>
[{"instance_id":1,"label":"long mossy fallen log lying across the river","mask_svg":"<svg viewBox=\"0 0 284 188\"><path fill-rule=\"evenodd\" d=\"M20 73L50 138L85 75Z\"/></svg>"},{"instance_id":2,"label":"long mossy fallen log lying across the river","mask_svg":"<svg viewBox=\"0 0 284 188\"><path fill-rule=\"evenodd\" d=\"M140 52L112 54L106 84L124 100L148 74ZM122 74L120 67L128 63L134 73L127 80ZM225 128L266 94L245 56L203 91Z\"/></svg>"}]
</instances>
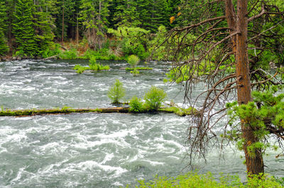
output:
<instances>
[{"instance_id":1,"label":"long mossy fallen log lying across the river","mask_svg":"<svg viewBox=\"0 0 284 188\"><path fill-rule=\"evenodd\" d=\"M174 113L178 116L197 115L195 109L179 109L175 107L160 108L159 112ZM146 113L143 111L141 113ZM129 107L111 107L111 108L99 108L99 109L72 109L63 107L62 109L23 109L23 110L10 110L2 109L0 116L36 116L36 115L48 115L48 114L75 114L75 113L132 113L129 111Z\"/></svg>"}]
</instances>

